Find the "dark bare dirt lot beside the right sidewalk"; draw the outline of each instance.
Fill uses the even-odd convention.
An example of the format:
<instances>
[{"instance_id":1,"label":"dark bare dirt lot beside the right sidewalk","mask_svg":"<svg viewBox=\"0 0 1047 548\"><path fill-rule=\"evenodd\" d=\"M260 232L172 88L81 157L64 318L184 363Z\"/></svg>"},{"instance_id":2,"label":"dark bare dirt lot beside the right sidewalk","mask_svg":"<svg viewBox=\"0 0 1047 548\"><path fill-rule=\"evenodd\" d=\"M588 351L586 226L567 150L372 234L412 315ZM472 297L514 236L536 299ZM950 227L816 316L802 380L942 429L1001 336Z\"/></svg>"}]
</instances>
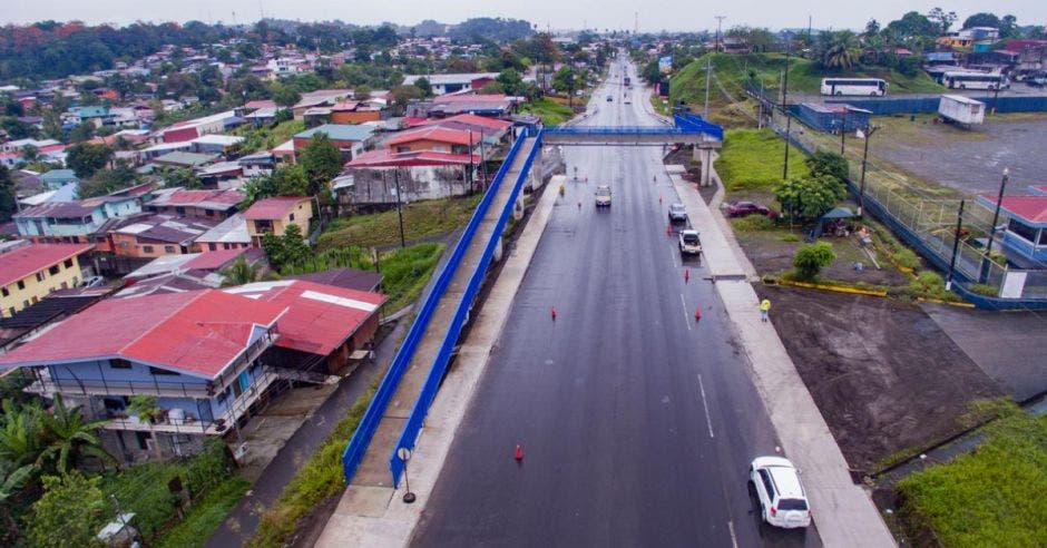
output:
<instances>
[{"instance_id":1,"label":"dark bare dirt lot beside the right sidewalk","mask_svg":"<svg viewBox=\"0 0 1047 548\"><path fill-rule=\"evenodd\" d=\"M902 449L959 431L968 402L1002 395L919 306L757 286L789 355L850 466L872 471Z\"/></svg>"}]
</instances>

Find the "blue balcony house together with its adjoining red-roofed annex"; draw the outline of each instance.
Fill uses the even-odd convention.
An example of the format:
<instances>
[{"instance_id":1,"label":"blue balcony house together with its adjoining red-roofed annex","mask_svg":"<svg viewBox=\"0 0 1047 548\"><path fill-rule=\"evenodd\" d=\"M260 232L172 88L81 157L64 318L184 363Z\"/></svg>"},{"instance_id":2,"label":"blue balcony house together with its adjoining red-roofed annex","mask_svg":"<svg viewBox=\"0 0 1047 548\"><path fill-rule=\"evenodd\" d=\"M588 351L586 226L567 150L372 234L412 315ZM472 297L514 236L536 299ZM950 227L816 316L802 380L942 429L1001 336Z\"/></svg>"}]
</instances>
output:
<instances>
[{"instance_id":1,"label":"blue balcony house together with its adjoining red-roofed annex","mask_svg":"<svg viewBox=\"0 0 1047 548\"><path fill-rule=\"evenodd\" d=\"M29 391L61 393L127 460L183 456L226 437L288 383L336 378L370 348L384 295L288 280L101 301L0 355ZM277 382L281 381L281 382ZM154 399L151 417L130 401Z\"/></svg>"}]
</instances>

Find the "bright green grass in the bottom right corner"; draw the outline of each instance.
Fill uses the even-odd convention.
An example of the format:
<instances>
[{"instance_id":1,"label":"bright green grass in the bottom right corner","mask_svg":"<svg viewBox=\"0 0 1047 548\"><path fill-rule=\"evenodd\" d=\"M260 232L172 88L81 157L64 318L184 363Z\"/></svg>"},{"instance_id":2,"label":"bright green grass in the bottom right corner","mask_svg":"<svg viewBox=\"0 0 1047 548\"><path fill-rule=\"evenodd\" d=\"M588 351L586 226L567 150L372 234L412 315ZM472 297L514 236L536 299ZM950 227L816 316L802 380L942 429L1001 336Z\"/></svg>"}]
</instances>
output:
<instances>
[{"instance_id":1,"label":"bright green grass in the bottom right corner","mask_svg":"<svg viewBox=\"0 0 1047 548\"><path fill-rule=\"evenodd\" d=\"M975 452L898 483L914 544L1026 547L1047 542L1047 418L1014 405Z\"/></svg>"}]
</instances>

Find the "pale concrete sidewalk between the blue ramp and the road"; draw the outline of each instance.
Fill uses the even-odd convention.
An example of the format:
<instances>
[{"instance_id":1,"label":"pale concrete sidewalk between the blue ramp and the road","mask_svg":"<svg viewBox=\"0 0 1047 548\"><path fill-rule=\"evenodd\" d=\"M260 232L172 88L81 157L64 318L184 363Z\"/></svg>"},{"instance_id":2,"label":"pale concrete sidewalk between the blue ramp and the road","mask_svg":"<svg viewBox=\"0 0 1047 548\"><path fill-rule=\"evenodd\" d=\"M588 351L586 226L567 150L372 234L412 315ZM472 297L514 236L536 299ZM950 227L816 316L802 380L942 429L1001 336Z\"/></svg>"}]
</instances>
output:
<instances>
[{"instance_id":1,"label":"pale concrete sidewalk between the blue ramp and the road","mask_svg":"<svg viewBox=\"0 0 1047 548\"><path fill-rule=\"evenodd\" d=\"M414 453L408 466L408 478L417 500L402 502L405 492L400 488L362 486L353 482L339 501L337 508L316 540L323 547L390 547L407 546L437 479L458 425L464 418L472 392L477 386L495 342L509 317L509 309L531 256L545 231L557 193L550 190L556 183L546 185L531 218L516 242L507 249L506 264L495 281L487 300L480 306L469 336L463 341L454 366L450 369L432 408L425 418Z\"/></svg>"}]
</instances>

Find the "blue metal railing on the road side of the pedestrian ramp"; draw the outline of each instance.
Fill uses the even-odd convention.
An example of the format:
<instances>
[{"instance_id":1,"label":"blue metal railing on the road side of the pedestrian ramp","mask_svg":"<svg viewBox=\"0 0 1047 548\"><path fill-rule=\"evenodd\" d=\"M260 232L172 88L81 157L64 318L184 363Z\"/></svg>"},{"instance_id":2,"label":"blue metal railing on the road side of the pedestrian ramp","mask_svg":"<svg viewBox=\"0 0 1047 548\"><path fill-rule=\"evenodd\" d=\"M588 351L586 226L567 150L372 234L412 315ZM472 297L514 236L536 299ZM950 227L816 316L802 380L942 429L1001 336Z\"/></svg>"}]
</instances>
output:
<instances>
[{"instance_id":1,"label":"blue metal railing on the road side of the pedestrian ramp","mask_svg":"<svg viewBox=\"0 0 1047 548\"><path fill-rule=\"evenodd\" d=\"M422 423L425 421L425 415L429 413L429 407L432 404L433 399L436 399L437 391L440 389L440 383L443 380L444 373L447 372L448 363L451 360L451 352L458 344L458 339L461 336L461 330L466 323L466 317L468 316L469 311L472 309L477 293L480 291L480 285L483 283L483 278L487 275L487 268L491 263L491 258L493 257L495 248L498 246L498 243L501 239L502 231L506 228L506 223L509 221L509 215L512 213L517 197L520 194L520 189L524 188L524 183L527 180L531 164L535 160L535 156L538 154L538 150L541 149L541 136L542 134L539 131L537 134L535 146L527 155L517 179L512 182L512 190L510 190L509 200L506 203L505 208L502 208L501 213L498 215L498 222L496 223L495 229L491 233L491 238L487 242L487 246L483 248L483 254L480 256L480 262L477 265L476 271L473 271L472 276L469 278L469 284L466 286L466 291L462 293L461 301L459 301L458 309L454 311L454 316L451 320L451 325L448 327L447 334L443 336L443 342L440 344L440 350L437 353L437 358L433 360L432 366L429 369L429 375L425 378L425 383L422 385L421 393L419 394L418 400L414 402L414 408L411 410L411 415L403 425L403 431L400 433L400 439L397 441L397 446L392 448L392 451L390 452L389 469L392 472L393 486L398 485L400 481L400 474L403 472L403 461L400 460L400 458L397 456L397 450L400 448L414 449L414 442L418 440L418 434L422 429ZM505 168L510 164L511 162L507 159L506 163L502 164L502 167ZM503 176L505 174L500 173L500 175ZM492 187L501 184L501 177L497 177L497 180L492 184ZM497 192L497 188L495 192ZM493 196L493 193L490 195Z\"/></svg>"}]
</instances>

